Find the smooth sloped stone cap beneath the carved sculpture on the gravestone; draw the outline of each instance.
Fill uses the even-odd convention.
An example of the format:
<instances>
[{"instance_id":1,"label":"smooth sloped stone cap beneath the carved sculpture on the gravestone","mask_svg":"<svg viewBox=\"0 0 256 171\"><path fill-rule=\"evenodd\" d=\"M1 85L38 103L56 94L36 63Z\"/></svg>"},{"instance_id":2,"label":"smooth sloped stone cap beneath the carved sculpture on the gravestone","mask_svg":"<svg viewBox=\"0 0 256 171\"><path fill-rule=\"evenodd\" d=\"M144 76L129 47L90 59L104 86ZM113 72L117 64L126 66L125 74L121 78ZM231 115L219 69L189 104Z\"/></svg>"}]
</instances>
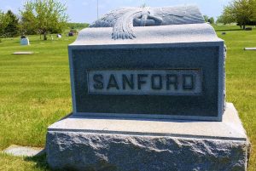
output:
<instances>
[{"instance_id":1,"label":"smooth sloped stone cap beneath the carved sculpture on the gravestone","mask_svg":"<svg viewBox=\"0 0 256 171\"><path fill-rule=\"evenodd\" d=\"M72 46L224 42L207 23L134 27L135 39L112 39L113 28L85 28Z\"/></svg>"}]
</instances>

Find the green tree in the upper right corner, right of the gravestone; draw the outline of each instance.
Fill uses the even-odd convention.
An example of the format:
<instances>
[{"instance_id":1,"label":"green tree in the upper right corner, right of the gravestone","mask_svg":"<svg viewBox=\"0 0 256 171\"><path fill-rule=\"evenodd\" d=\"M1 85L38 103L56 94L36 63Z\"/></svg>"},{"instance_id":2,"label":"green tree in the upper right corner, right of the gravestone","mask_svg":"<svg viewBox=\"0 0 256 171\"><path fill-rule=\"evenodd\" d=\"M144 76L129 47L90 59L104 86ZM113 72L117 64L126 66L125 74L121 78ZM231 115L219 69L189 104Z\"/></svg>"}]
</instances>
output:
<instances>
[{"instance_id":1,"label":"green tree in the upper right corner, right of the gravestone","mask_svg":"<svg viewBox=\"0 0 256 171\"><path fill-rule=\"evenodd\" d=\"M242 29L256 25L256 0L234 0L224 7L218 23L237 23Z\"/></svg>"}]
</instances>

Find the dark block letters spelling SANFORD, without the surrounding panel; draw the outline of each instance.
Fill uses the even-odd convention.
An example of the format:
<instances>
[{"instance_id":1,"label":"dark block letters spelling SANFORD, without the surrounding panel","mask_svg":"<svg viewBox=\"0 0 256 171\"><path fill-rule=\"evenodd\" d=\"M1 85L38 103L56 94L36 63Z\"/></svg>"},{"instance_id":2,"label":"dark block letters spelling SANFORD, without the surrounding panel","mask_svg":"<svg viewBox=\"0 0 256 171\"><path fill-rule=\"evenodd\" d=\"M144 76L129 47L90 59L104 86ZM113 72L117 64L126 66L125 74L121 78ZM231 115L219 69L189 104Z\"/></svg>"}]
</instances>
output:
<instances>
[{"instance_id":1,"label":"dark block letters spelling SANFORD, without the surrounding panel","mask_svg":"<svg viewBox=\"0 0 256 171\"><path fill-rule=\"evenodd\" d=\"M183 83L178 82L178 77L182 77ZM183 90L193 90L195 88L195 75L174 75L174 74L122 74L121 79L114 74L110 74L107 78L107 83L104 82L103 74L95 74L93 76L93 88L95 89L138 89L151 88L152 90L160 90L165 88L166 90L177 90L183 88Z\"/></svg>"}]
</instances>

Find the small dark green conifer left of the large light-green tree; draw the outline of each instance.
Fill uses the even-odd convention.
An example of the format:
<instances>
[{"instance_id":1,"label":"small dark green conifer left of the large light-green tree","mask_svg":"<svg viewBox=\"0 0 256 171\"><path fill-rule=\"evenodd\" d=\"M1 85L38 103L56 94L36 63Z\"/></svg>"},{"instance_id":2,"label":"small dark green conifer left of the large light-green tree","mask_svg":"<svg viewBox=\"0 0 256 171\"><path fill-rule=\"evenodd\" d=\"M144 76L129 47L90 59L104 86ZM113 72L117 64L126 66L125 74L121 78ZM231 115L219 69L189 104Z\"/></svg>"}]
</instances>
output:
<instances>
[{"instance_id":1,"label":"small dark green conifer left of the large light-green tree","mask_svg":"<svg viewBox=\"0 0 256 171\"><path fill-rule=\"evenodd\" d=\"M11 10L8 10L5 15L9 19L9 22L8 22L8 25L5 26L4 32L9 37L18 36L19 30L20 30L18 17Z\"/></svg>"}]
</instances>

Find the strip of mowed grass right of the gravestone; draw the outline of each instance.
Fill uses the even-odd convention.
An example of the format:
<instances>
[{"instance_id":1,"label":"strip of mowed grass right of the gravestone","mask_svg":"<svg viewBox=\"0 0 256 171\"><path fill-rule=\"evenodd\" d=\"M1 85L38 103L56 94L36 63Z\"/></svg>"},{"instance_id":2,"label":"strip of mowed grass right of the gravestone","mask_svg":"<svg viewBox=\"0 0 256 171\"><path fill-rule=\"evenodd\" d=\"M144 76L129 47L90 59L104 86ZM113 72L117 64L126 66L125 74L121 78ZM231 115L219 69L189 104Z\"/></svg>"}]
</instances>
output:
<instances>
[{"instance_id":1,"label":"strip of mowed grass right of the gravestone","mask_svg":"<svg viewBox=\"0 0 256 171\"><path fill-rule=\"evenodd\" d=\"M252 143L249 171L256 169L256 29L241 31L238 26L215 26L228 48L226 59L227 101L234 103ZM222 32L226 35L222 35Z\"/></svg>"}]
</instances>

